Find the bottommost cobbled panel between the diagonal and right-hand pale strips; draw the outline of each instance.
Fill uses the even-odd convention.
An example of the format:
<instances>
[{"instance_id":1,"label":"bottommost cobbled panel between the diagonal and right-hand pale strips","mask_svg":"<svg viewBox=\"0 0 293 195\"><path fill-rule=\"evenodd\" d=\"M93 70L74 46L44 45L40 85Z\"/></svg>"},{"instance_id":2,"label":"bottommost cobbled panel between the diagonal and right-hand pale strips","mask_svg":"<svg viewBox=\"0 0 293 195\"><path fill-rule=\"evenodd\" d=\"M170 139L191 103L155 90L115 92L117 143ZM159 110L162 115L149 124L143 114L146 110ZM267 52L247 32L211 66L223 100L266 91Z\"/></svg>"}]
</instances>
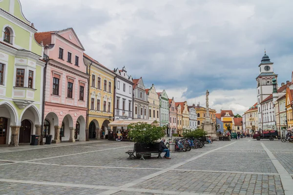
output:
<instances>
[{"instance_id":1,"label":"bottommost cobbled panel between the diagonal and right-hand pale strips","mask_svg":"<svg viewBox=\"0 0 293 195\"><path fill-rule=\"evenodd\" d=\"M279 176L169 171L135 188L207 194L284 195Z\"/></svg>"}]
</instances>

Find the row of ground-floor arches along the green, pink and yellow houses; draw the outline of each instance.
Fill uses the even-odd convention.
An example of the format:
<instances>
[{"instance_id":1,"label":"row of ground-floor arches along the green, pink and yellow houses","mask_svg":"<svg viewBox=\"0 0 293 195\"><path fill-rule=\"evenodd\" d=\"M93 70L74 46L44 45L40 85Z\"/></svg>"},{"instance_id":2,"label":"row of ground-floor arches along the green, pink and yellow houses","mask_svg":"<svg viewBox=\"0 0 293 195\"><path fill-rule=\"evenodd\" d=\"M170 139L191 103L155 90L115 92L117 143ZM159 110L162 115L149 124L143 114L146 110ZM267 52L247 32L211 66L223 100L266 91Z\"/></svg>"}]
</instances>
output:
<instances>
[{"instance_id":1,"label":"row of ground-floor arches along the green, pink and yellow houses","mask_svg":"<svg viewBox=\"0 0 293 195\"><path fill-rule=\"evenodd\" d=\"M52 135L52 143L62 141L75 142L105 137L109 120L103 122L93 119L88 122L86 133L86 114L69 112L49 112L44 115L42 128L42 114L35 105L25 107L21 115L18 115L16 107L9 101L0 102L0 145L18 146L22 143L30 143L31 135L42 135L42 142L46 136ZM88 135L87 135L88 134ZM39 141L41 137L39 137Z\"/></svg>"}]
</instances>

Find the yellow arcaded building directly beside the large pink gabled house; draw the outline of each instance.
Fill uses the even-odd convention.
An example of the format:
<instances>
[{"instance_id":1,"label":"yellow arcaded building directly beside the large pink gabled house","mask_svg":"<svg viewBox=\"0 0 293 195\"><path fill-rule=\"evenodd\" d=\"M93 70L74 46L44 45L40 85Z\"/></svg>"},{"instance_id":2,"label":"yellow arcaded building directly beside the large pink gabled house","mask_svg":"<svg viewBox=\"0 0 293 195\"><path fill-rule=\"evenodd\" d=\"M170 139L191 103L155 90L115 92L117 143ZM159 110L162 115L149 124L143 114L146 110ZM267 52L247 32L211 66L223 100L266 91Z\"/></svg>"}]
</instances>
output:
<instances>
[{"instance_id":1,"label":"yellow arcaded building directly beside the large pink gabled house","mask_svg":"<svg viewBox=\"0 0 293 195\"><path fill-rule=\"evenodd\" d=\"M113 121L115 74L95 59L84 54L84 63L89 77L88 94L88 138L104 138Z\"/></svg>"}]
</instances>

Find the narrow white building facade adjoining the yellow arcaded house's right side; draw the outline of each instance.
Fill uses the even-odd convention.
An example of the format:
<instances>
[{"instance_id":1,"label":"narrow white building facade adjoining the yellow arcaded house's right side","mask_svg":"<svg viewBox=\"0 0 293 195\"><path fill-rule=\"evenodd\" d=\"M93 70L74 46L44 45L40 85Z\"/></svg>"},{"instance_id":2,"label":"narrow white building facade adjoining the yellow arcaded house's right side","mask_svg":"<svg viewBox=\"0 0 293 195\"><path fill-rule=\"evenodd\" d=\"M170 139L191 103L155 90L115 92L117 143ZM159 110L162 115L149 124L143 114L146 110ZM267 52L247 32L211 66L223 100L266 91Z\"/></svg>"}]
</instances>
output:
<instances>
[{"instance_id":1,"label":"narrow white building facade adjoining the yellow arcaded house's right side","mask_svg":"<svg viewBox=\"0 0 293 195\"><path fill-rule=\"evenodd\" d=\"M127 75L126 68L114 69L115 78L115 111L114 120L127 120L133 117L133 82Z\"/></svg>"}]
</instances>

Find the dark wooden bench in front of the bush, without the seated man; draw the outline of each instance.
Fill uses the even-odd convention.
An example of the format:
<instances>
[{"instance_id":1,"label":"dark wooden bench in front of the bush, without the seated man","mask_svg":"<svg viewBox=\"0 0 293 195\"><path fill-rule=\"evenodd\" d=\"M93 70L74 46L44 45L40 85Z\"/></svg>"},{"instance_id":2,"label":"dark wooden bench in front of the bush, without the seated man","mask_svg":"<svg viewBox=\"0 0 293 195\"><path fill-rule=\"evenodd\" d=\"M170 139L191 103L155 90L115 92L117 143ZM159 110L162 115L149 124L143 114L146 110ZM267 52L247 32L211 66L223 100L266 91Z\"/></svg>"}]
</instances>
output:
<instances>
[{"instance_id":1,"label":"dark wooden bench in front of the bush, without the seated man","mask_svg":"<svg viewBox=\"0 0 293 195\"><path fill-rule=\"evenodd\" d=\"M128 150L126 152L126 154L129 155L127 159L132 159L133 157L136 157L136 158L140 157L140 160L145 160L144 157L153 156L153 155L158 155L157 158L159 157L162 158L161 153L162 151L160 151L159 142L155 142L154 144L135 143L133 150Z\"/></svg>"}]
</instances>

